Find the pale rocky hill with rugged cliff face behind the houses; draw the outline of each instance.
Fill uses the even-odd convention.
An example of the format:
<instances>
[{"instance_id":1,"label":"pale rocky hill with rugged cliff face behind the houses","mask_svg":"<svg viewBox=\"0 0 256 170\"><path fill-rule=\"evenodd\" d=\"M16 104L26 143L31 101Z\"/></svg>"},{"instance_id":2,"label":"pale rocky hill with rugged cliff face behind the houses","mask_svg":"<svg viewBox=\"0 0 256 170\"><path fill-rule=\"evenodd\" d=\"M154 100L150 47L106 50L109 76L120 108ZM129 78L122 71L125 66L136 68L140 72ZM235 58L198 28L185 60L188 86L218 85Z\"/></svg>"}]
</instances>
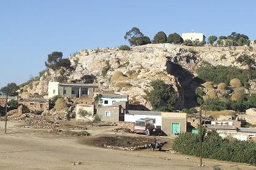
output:
<instances>
[{"instance_id":1,"label":"pale rocky hill with rugged cliff face behind the houses","mask_svg":"<svg viewBox=\"0 0 256 170\"><path fill-rule=\"evenodd\" d=\"M98 83L100 90L115 90L129 95L130 103L151 109L147 94L152 80L172 84L179 92L177 107L196 106L194 90L197 67L210 63L214 66L246 67L235 60L244 53L256 57L256 47L188 47L172 44L147 44L131 50L116 48L84 49L69 56L74 69L47 70L44 73L44 93L49 81L69 83ZM113 76L114 75L114 76ZM42 93L42 78L21 89L21 95ZM255 82L252 82L255 84ZM251 86L254 86L251 84Z\"/></svg>"}]
</instances>

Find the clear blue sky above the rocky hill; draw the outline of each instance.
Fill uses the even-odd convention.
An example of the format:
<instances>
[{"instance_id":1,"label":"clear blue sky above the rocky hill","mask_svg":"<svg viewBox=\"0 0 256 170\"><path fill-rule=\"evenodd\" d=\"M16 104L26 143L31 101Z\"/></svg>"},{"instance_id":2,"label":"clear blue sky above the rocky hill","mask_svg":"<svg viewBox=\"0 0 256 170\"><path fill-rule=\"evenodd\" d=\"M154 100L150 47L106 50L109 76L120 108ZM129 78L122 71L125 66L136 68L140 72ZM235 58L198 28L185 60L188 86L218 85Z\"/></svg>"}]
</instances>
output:
<instances>
[{"instance_id":1,"label":"clear blue sky above the rocky hill","mask_svg":"<svg viewBox=\"0 0 256 170\"><path fill-rule=\"evenodd\" d=\"M255 9L254 0L0 0L0 87L38 76L51 52L128 44L132 27L151 39L192 30L256 39Z\"/></svg>"}]
</instances>

